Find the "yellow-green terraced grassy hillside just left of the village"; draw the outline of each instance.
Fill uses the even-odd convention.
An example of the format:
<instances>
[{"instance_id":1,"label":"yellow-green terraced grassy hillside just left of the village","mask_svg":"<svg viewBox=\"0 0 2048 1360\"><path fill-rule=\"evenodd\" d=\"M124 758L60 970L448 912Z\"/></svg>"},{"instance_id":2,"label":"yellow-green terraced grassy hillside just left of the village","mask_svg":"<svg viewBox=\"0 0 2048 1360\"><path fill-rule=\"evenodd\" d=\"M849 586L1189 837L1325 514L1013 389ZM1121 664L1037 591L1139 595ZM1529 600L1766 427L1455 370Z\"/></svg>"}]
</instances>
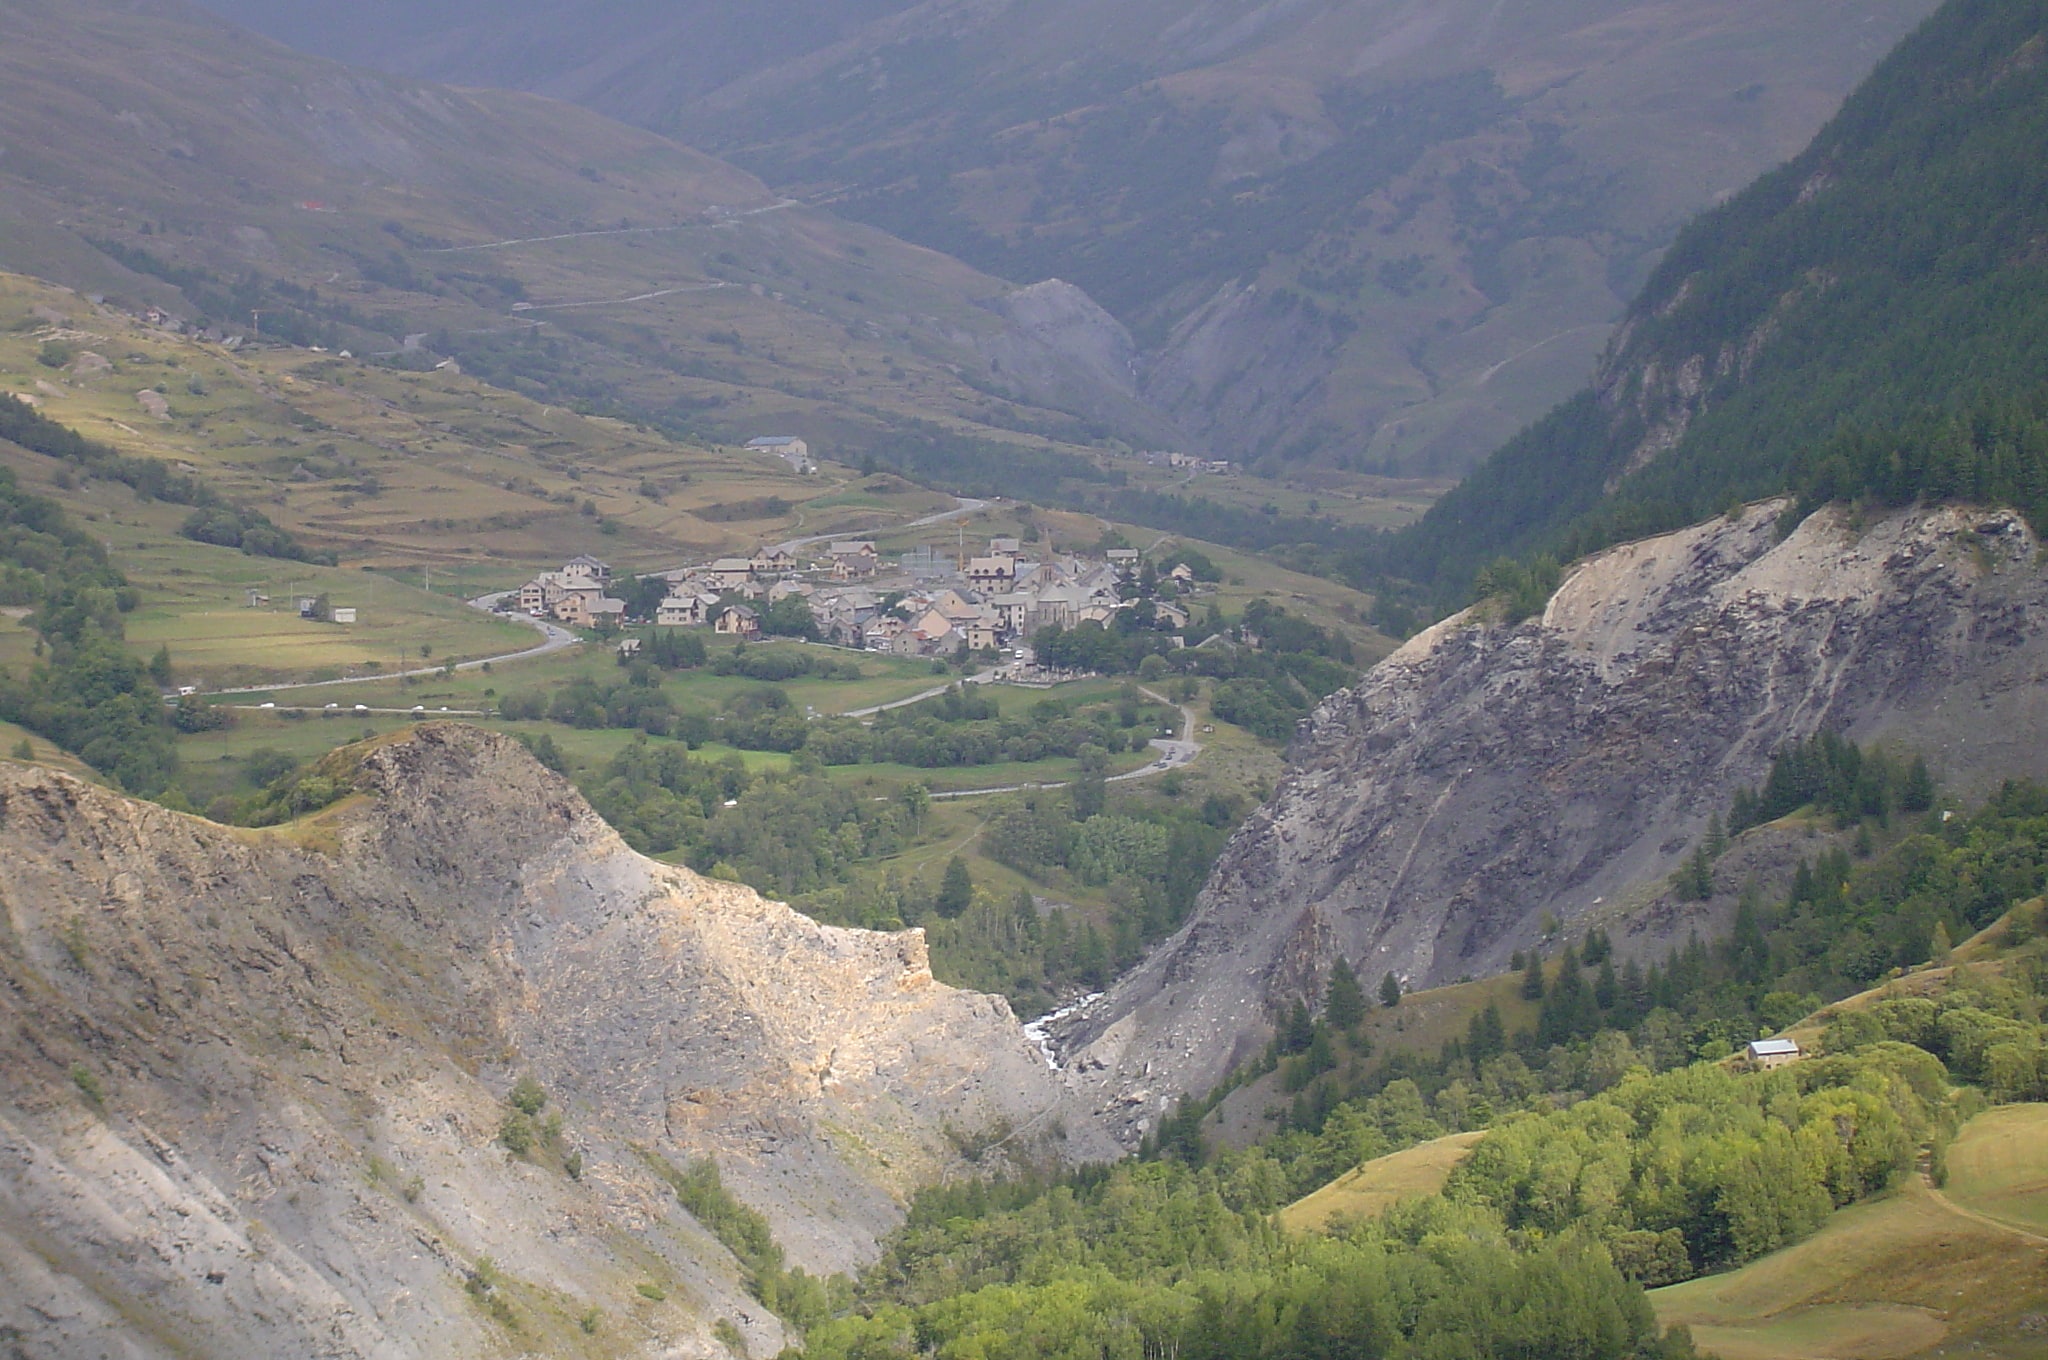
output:
<instances>
[{"instance_id":1,"label":"yellow-green terraced grassy hillside just left of the village","mask_svg":"<svg viewBox=\"0 0 2048 1360\"><path fill-rule=\"evenodd\" d=\"M113 371L43 367L45 342L100 354ZM166 391L170 420L139 408L135 393L152 387ZM401 649L422 645L434 657L518 651L539 641L532 629L477 614L446 590L508 588L582 551L668 567L948 504L893 483L858 506L813 512L809 498L858 481L844 469L797 477L780 459L674 442L471 379L301 350L229 354L20 277L0 277L0 391L125 453L193 467L307 543L340 551L342 567L313 567L193 543L176 533L184 508L137 502L119 483L66 487L53 459L0 444L0 461L94 524L141 586L143 606L129 621L135 645L168 643L182 680L199 684L360 674L373 662L395 670ZM365 479L377 490L365 492ZM643 483L659 498L643 496ZM760 498L791 510L758 520L698 514ZM600 533L600 518L616 533ZM422 569L438 594L418 588ZM268 594L270 608L248 608L250 588ZM352 604L358 623L303 623L289 606L293 590ZM12 619L0 621L0 664L25 660L29 647Z\"/></svg>"}]
</instances>

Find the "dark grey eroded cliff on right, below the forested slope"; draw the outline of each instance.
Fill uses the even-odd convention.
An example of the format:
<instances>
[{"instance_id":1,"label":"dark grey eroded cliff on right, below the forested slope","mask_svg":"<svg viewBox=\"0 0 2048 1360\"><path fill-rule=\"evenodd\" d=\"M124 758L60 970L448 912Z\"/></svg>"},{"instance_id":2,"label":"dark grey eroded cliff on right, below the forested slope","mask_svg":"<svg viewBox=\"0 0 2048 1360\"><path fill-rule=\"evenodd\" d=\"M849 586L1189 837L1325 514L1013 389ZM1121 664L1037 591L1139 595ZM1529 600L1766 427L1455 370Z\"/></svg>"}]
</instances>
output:
<instances>
[{"instance_id":1,"label":"dark grey eroded cliff on right, below the forested slope","mask_svg":"<svg viewBox=\"0 0 2048 1360\"><path fill-rule=\"evenodd\" d=\"M1544 913L1661 950L1700 922L1632 907L1821 729L1966 795L2048 774L2048 573L2017 514L1823 510L1780 539L1780 510L1606 551L1540 619L1468 610L1325 700L1188 926L1065 1032L1071 1079L1130 1139L1337 952L1434 985L1501 971Z\"/></svg>"}]
</instances>

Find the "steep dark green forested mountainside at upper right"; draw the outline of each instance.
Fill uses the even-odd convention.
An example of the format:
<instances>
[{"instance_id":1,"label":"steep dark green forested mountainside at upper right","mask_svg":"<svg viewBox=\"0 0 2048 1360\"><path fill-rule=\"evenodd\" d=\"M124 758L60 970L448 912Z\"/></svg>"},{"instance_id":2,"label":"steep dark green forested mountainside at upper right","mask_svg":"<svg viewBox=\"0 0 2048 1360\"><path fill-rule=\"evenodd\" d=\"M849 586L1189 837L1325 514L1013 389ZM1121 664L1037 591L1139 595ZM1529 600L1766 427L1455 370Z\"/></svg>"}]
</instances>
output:
<instances>
[{"instance_id":1,"label":"steep dark green forested mountainside at upper right","mask_svg":"<svg viewBox=\"0 0 2048 1360\"><path fill-rule=\"evenodd\" d=\"M1456 592L1503 551L1839 479L1829 436L1845 428L1939 442L1948 416L2038 406L2042 145L2048 4L1948 4L1796 160L1679 236L1593 387L1407 530L1391 569ZM1862 490L1839 481L1821 490Z\"/></svg>"}]
</instances>

